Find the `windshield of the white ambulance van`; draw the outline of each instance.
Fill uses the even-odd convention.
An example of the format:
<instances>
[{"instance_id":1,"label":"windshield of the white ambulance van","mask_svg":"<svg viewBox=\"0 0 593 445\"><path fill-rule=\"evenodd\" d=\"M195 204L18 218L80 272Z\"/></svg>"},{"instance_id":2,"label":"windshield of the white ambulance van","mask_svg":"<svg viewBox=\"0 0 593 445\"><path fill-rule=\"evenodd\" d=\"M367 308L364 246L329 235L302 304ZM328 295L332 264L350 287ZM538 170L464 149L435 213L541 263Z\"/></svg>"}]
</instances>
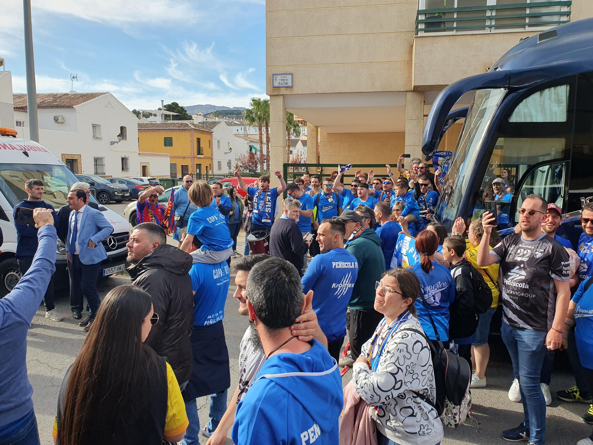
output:
<instances>
[{"instance_id":1,"label":"windshield of the white ambulance van","mask_svg":"<svg viewBox=\"0 0 593 445\"><path fill-rule=\"evenodd\" d=\"M78 182L66 166L0 163L0 192L13 208L27 199L25 182L28 179L43 182L43 201L53 205L56 210L66 204L70 186ZM94 200L93 196L91 200Z\"/></svg>"}]
</instances>

